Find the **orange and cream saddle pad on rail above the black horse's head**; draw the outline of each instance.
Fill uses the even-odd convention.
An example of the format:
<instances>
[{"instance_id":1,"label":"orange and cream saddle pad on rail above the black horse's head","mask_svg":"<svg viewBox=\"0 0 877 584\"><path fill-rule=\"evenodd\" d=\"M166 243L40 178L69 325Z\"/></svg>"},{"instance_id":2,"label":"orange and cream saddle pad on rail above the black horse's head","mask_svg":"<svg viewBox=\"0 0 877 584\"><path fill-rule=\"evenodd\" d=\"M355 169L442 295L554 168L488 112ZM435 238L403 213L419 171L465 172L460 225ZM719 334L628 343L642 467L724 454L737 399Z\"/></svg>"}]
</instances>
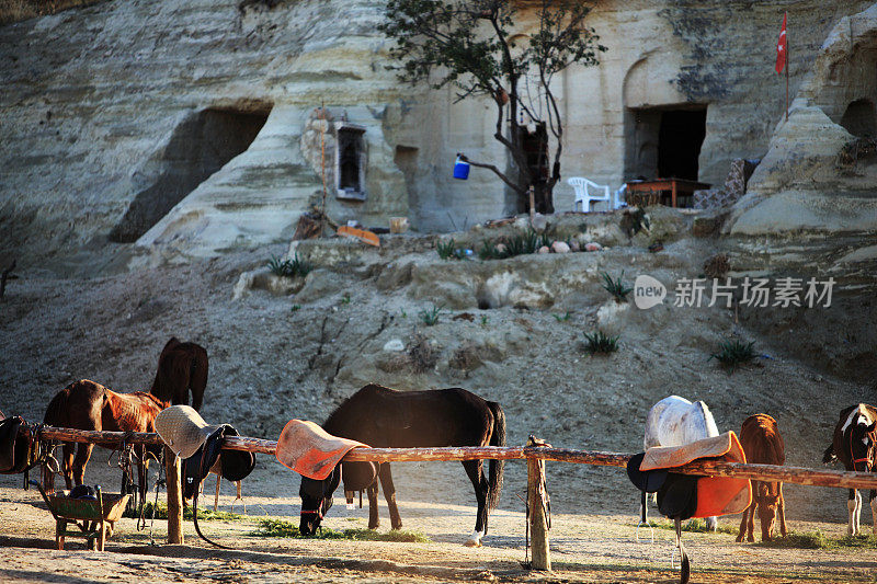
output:
<instances>
[{"instance_id":1,"label":"orange and cream saddle pad on rail above the black horse's head","mask_svg":"<svg viewBox=\"0 0 877 584\"><path fill-rule=\"evenodd\" d=\"M368 447L361 442L332 436L314 422L291 420L277 438L275 456L284 467L321 481L357 446Z\"/></svg>"}]
</instances>

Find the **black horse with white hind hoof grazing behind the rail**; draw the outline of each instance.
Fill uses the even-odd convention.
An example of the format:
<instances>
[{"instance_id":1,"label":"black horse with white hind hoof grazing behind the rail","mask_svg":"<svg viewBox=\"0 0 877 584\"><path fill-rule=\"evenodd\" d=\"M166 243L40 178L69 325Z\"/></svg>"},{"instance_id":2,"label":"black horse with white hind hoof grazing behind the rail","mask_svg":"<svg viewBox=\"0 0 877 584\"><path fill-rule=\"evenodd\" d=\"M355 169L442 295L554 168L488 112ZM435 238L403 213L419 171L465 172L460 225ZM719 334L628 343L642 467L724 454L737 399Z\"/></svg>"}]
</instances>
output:
<instances>
[{"instance_id":1,"label":"black horse with white hind hoof grazing behind the rail","mask_svg":"<svg viewBox=\"0 0 877 584\"><path fill-rule=\"evenodd\" d=\"M460 388L397 391L369 383L348 398L323 424L328 433L360 440L374 448L436 446L505 446L505 414L499 403L486 401ZM487 534L488 509L497 506L502 490L503 461L490 460L489 479L481 460L463 467L475 488L478 517L467 546L480 546ZM312 535L332 505L332 493L343 477L345 491L368 492L368 528L380 520L377 479L390 512L394 529L402 526L396 505L389 462L342 462L321 481L301 478L301 535Z\"/></svg>"}]
</instances>

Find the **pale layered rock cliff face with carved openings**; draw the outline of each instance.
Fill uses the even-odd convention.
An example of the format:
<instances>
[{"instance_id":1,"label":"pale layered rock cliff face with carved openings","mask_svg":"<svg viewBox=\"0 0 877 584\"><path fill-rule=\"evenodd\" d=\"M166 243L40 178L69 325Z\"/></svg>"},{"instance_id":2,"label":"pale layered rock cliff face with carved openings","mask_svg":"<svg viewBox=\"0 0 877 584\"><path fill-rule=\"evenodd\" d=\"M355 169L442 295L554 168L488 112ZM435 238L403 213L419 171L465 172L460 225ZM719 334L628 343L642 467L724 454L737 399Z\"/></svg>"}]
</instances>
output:
<instances>
[{"instance_id":1,"label":"pale layered rock cliff face with carved openings","mask_svg":"<svg viewBox=\"0 0 877 584\"><path fill-rule=\"evenodd\" d=\"M565 176L616 188L630 178L630 152L649 147L637 113L695 105L706 107L701 179L720 182L732 159L766 152L782 115L782 11L794 94L832 26L867 4L599 2L589 24L608 53L556 79ZM429 231L510 213L512 197L490 173L451 178L457 151L505 165L492 103L399 84L385 69L381 18L378 0L126 0L0 27L0 253L59 254L144 230L139 247L184 255L288 239L322 193L304 136L320 104L364 128L366 199L330 192L339 220L408 215ZM532 28L524 14L521 33ZM206 152L182 163L179 150L182 135L197 142L185 133L206 112L264 119L212 174ZM572 208L566 182L556 208Z\"/></svg>"}]
</instances>

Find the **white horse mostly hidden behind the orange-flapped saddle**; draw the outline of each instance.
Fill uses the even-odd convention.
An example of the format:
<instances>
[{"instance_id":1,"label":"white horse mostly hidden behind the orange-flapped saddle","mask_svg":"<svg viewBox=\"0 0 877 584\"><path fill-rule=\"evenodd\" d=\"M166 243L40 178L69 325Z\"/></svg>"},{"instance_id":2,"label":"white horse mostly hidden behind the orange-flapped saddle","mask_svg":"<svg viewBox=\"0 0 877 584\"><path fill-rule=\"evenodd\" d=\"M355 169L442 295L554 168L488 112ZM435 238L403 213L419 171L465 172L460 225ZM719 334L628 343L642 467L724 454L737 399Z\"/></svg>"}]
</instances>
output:
<instances>
[{"instance_id":1,"label":"white horse mostly hidden behind the orange-flapped saddle","mask_svg":"<svg viewBox=\"0 0 877 584\"><path fill-rule=\"evenodd\" d=\"M682 446L718 435L716 421L706 403L670 396L649 410L642 444L648 450L653 446ZM707 517L706 525L715 531L718 519Z\"/></svg>"}]
</instances>

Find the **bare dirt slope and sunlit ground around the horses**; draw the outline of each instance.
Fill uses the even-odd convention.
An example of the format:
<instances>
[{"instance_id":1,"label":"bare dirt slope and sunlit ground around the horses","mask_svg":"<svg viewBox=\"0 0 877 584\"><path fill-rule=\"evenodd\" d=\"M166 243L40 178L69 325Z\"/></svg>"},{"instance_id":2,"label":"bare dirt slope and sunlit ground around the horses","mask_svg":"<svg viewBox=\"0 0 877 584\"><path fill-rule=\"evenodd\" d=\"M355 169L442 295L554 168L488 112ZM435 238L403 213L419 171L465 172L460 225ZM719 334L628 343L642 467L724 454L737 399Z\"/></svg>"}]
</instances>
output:
<instances>
[{"instance_id":1,"label":"bare dirt slope and sunlit ground around the horses","mask_svg":"<svg viewBox=\"0 0 877 584\"><path fill-rule=\"evenodd\" d=\"M125 248L100 250L88 261L20 266L20 278L10 282L0 302L0 410L39 421L52 396L80 378L117 390L148 390L158 354L171 335L208 351L205 420L231 423L243 435L267 439L276 439L291 417L322 421L346 396L374 381L400 389L458 386L499 401L510 445L535 434L557 447L634 453L641 449L650 404L676 393L706 400L722 431L739 428L752 413L771 413L786 439L787 463L820 467L838 412L850 403L873 401L872 388L784 351L799 346L796 337L805 334L788 323L772 329L770 319L761 319L759 327L748 329L741 324L747 319L737 321L731 311L718 308L622 311L601 287L604 271L617 275L626 270L625 279L631 280L637 273L664 280L696 276L703 259L715 252L715 242L668 241L659 254L631 243L599 253L483 263L442 262L429 239L395 251L368 251L371 260L350 245L309 249L317 266L291 295L251 288L240 294L241 275L261 270L272 254L285 253L283 244L134 272L119 270L132 256ZM551 304L479 308L476 290L503 272L558 286L548 290ZM441 321L426 327L419 312L438 305L444 305ZM620 350L591 357L582 350L582 333L603 325L619 331ZM736 336L755 341L761 356L729 374L709 359L709 352ZM396 339L406 347L425 339L434 360L426 368L400 360L386 348ZM117 470L107 465L107 456L95 450L87 482L115 488ZM123 519L107 552L100 554L84 550L81 540L69 541L65 551L52 550L54 525L38 494L21 490L21 477L0 476L0 580L677 580L670 568L672 531L658 529L653 545L636 541L637 493L620 469L548 463L549 574L521 565L525 522L517 495L525 492L523 463L508 463L500 508L479 549L463 546L475 524L475 497L459 465L399 463L394 478L405 527L431 542L251 535L260 517L297 520L298 514L296 477L259 456L243 485L248 519L203 524L208 537L237 550L206 546L191 523L184 546L166 546L163 522L155 523L150 537L148 529L137 531L133 519ZM206 490L212 489L209 481ZM224 486L225 508L231 489ZM787 485L786 500L790 529L845 533L845 492ZM869 527L865 508L863 524ZM387 529L386 508L381 511L381 529ZM326 525L364 527L366 522L366 509L348 511L337 500ZM739 516L721 523L736 526ZM693 582L874 582L877 574L874 550L774 549L738 545L728 534L684 537Z\"/></svg>"}]
</instances>

